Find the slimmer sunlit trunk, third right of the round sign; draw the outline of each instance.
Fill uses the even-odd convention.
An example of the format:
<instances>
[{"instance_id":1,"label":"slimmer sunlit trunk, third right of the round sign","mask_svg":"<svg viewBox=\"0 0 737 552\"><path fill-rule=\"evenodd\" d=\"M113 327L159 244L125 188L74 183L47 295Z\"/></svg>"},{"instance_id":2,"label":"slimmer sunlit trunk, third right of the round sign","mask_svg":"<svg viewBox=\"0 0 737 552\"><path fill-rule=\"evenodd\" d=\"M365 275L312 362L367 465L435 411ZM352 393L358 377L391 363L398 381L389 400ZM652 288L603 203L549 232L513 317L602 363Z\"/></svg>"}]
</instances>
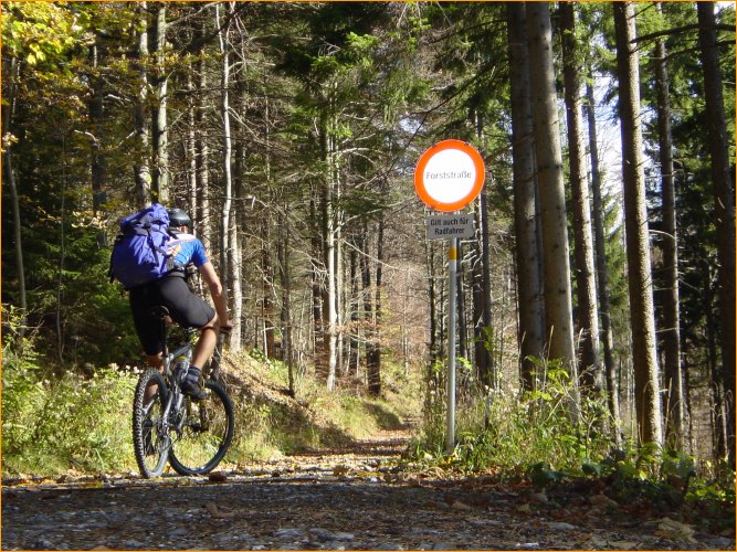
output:
<instances>
[{"instance_id":1,"label":"slimmer sunlit trunk, third right of the round sign","mask_svg":"<svg viewBox=\"0 0 737 552\"><path fill-rule=\"evenodd\" d=\"M568 151L570 189L573 203L573 241L576 258L576 291L578 298L578 328L580 332L580 381L583 390L603 389L599 361L599 311L593 267L591 208L589 187L585 174L581 145L581 59L576 36L576 11L572 2L560 2L560 31L564 51L564 81L568 117Z\"/></svg>"}]
</instances>

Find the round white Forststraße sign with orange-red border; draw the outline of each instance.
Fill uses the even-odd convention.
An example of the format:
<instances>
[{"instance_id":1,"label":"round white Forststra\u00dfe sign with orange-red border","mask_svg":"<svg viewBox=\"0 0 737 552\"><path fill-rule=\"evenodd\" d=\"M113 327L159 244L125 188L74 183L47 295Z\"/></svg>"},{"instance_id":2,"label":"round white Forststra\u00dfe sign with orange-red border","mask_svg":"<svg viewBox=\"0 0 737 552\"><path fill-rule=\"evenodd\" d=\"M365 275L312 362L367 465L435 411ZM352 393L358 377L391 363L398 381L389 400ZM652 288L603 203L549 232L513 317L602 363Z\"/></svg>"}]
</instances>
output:
<instances>
[{"instance_id":1,"label":"round white Forststra\u00dfe sign with orange-red border","mask_svg":"<svg viewBox=\"0 0 737 552\"><path fill-rule=\"evenodd\" d=\"M484 179L484 160L478 151L461 140L443 140L420 157L414 190L425 205L451 212L476 199Z\"/></svg>"}]
</instances>

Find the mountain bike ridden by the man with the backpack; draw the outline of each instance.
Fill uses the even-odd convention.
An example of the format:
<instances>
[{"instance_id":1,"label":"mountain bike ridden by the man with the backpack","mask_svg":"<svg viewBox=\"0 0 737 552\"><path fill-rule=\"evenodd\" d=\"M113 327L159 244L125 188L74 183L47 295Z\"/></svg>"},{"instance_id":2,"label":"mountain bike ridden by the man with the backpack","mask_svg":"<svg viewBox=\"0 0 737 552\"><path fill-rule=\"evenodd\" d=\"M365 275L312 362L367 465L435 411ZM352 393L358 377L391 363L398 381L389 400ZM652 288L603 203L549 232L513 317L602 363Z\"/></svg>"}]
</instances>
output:
<instances>
[{"instance_id":1,"label":"mountain bike ridden by the man with the backpack","mask_svg":"<svg viewBox=\"0 0 737 552\"><path fill-rule=\"evenodd\" d=\"M133 443L144 477L158 477L167 461L180 475L204 475L222 460L233 438L233 403L220 380L222 335L204 380L206 399L196 401L179 386L176 367L189 368L198 330L181 328L181 344L169 351L168 310L151 316L164 328L162 371L149 368L138 379L133 403ZM186 371L186 370L183 370Z\"/></svg>"}]
</instances>

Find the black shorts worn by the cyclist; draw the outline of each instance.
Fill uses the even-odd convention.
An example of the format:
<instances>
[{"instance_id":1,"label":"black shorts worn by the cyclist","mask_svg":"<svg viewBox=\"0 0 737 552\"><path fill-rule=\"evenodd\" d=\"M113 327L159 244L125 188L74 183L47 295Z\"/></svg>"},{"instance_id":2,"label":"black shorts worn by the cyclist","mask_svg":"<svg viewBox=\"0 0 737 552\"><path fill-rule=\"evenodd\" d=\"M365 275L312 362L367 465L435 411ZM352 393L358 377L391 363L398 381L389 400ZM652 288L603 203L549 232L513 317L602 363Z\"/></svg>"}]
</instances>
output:
<instances>
[{"instance_id":1,"label":"black shorts worn by the cyclist","mask_svg":"<svg viewBox=\"0 0 737 552\"><path fill-rule=\"evenodd\" d=\"M215 316L207 301L190 291L180 275L165 276L129 291L130 310L136 333L146 354L164 350L161 320L151 316L152 307L164 306L175 322L185 328L201 328Z\"/></svg>"}]
</instances>

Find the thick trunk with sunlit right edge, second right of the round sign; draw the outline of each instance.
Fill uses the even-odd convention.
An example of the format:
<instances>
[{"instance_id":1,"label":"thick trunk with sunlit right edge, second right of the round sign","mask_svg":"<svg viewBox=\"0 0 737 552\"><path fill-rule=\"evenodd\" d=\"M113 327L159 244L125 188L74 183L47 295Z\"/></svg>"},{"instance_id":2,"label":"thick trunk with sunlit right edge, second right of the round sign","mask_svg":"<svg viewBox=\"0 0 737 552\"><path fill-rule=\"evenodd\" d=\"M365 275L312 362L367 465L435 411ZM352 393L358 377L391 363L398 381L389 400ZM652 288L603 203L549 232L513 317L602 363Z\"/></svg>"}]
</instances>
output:
<instances>
[{"instance_id":1,"label":"thick trunk with sunlit right edge, second right of the round sign","mask_svg":"<svg viewBox=\"0 0 737 552\"><path fill-rule=\"evenodd\" d=\"M577 380L566 192L560 123L552 61L552 26L547 2L527 3L533 126L543 230L543 274L548 355Z\"/></svg>"}]
</instances>

